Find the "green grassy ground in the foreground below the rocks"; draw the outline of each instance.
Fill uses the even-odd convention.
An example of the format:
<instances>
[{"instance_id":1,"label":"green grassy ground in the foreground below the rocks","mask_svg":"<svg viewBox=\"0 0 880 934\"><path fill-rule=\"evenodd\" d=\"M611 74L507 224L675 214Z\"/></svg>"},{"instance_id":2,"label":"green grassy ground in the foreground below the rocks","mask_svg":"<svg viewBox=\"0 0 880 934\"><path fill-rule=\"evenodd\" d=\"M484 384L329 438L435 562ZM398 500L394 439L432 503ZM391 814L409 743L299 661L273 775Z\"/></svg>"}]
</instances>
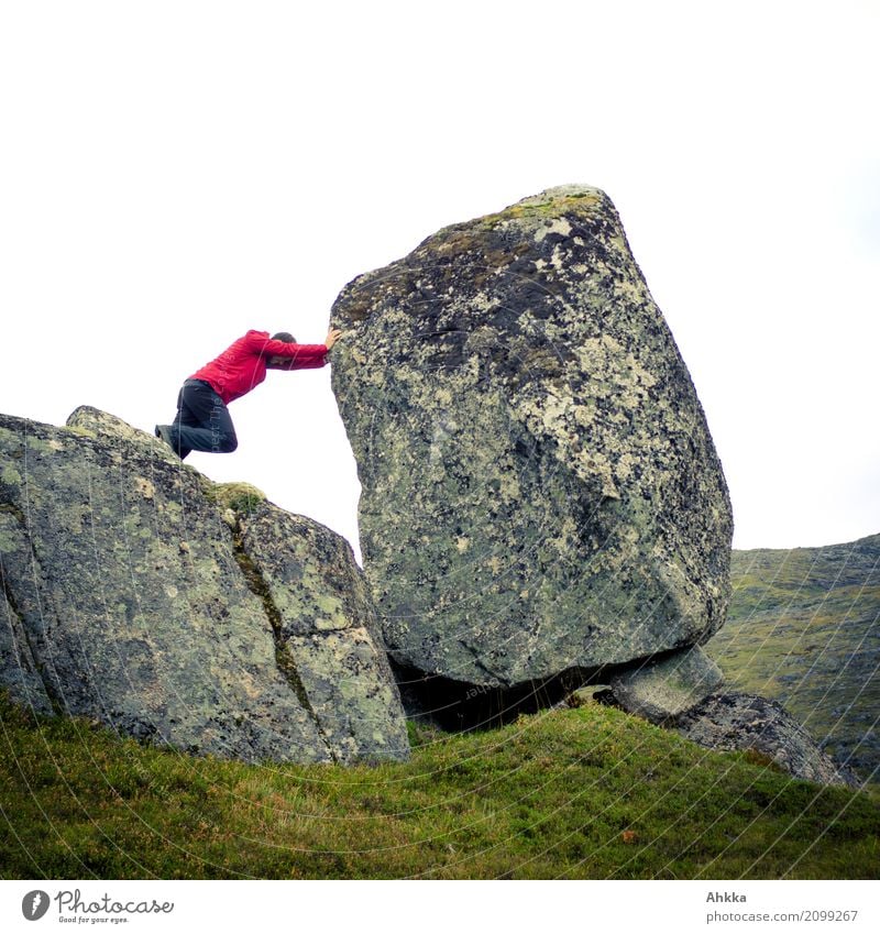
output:
<instances>
[{"instance_id":1,"label":"green grassy ground in the foreground below the rocks","mask_svg":"<svg viewBox=\"0 0 880 934\"><path fill-rule=\"evenodd\" d=\"M246 766L0 700L0 876L831 879L880 866L877 792L795 781L620 711L409 729L407 763Z\"/></svg>"}]
</instances>

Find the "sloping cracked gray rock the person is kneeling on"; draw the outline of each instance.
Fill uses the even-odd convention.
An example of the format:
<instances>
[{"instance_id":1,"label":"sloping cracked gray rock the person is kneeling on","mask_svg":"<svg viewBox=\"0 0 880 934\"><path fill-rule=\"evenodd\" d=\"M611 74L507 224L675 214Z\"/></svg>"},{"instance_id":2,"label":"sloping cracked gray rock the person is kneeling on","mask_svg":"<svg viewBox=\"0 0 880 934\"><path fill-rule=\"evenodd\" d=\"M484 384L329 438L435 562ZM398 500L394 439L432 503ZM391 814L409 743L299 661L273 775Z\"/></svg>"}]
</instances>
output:
<instances>
[{"instance_id":1,"label":"sloping cracked gray rock the person is kneeling on","mask_svg":"<svg viewBox=\"0 0 880 934\"><path fill-rule=\"evenodd\" d=\"M263 498L95 409L0 416L0 684L198 754L406 758L351 550Z\"/></svg>"}]
</instances>

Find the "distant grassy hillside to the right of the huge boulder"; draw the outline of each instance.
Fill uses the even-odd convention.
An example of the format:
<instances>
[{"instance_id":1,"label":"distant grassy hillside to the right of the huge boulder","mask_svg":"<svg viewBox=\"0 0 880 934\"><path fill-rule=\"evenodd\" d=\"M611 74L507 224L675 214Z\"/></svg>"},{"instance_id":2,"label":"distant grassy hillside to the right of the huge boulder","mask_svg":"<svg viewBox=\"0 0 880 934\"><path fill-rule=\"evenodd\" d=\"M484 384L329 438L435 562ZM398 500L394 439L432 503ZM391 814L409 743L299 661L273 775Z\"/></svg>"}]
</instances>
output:
<instances>
[{"instance_id":1,"label":"distant grassy hillside to the right of the huge boulder","mask_svg":"<svg viewBox=\"0 0 880 934\"><path fill-rule=\"evenodd\" d=\"M730 685L774 697L821 745L878 780L880 535L735 551L727 623L706 646Z\"/></svg>"}]
</instances>

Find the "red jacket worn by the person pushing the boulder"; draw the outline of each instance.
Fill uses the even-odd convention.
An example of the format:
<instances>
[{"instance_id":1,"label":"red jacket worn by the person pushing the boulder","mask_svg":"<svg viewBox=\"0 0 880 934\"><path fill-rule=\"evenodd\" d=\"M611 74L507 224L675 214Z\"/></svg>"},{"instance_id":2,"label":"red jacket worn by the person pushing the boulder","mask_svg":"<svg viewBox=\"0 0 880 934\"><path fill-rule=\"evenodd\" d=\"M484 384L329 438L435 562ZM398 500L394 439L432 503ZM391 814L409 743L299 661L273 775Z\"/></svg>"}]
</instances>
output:
<instances>
[{"instance_id":1,"label":"red jacket worn by the person pushing the boulder","mask_svg":"<svg viewBox=\"0 0 880 934\"><path fill-rule=\"evenodd\" d=\"M266 378L266 359L288 356L290 370L317 370L327 363L322 343L285 343L273 341L268 331L248 331L220 356L197 370L189 378L210 383L220 398L229 405L250 393ZM288 366L278 367L287 370Z\"/></svg>"}]
</instances>

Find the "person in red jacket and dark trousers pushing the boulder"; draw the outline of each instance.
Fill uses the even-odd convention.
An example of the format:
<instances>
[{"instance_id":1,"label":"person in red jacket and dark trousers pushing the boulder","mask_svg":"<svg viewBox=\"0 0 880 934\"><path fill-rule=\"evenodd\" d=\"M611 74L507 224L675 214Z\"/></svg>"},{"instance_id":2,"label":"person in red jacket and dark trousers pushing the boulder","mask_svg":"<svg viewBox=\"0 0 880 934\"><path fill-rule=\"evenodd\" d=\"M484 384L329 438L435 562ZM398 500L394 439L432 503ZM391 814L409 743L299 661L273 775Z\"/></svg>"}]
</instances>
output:
<instances>
[{"instance_id":1,"label":"person in red jacket and dark trousers pushing the boulder","mask_svg":"<svg viewBox=\"0 0 880 934\"><path fill-rule=\"evenodd\" d=\"M331 329L323 343L297 343L286 331L248 331L220 356L184 382L177 415L170 425L157 425L162 438L180 460L191 451L226 454L239 447L227 406L258 386L266 370L316 370L342 332Z\"/></svg>"}]
</instances>

